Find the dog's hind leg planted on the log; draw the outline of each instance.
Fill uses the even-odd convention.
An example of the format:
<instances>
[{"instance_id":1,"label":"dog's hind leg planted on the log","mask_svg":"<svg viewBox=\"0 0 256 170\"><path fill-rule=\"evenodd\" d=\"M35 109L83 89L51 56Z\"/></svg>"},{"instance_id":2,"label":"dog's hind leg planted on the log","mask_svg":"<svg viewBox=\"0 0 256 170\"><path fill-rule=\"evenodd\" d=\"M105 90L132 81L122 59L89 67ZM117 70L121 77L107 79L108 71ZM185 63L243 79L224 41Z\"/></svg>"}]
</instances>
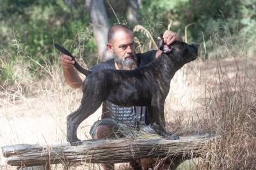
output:
<instances>
[{"instance_id":1,"label":"dog's hind leg planted on the log","mask_svg":"<svg viewBox=\"0 0 256 170\"><path fill-rule=\"evenodd\" d=\"M78 126L93 112L97 111L101 102L102 100L100 100L99 97L95 97L95 95L93 95L93 91L88 90L88 93L83 93L80 107L67 116L67 141L69 143L79 144L75 143L80 141L77 138Z\"/></svg>"}]
</instances>

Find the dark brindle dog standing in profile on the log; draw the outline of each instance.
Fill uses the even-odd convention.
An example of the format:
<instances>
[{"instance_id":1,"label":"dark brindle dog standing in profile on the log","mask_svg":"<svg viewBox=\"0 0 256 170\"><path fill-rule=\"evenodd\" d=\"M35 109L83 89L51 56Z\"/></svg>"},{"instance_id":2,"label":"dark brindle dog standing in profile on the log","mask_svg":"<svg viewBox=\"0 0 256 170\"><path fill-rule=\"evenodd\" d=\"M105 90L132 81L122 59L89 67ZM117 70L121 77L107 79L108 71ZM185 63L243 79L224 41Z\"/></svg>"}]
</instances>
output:
<instances>
[{"instance_id":1,"label":"dark brindle dog standing in profile on the log","mask_svg":"<svg viewBox=\"0 0 256 170\"><path fill-rule=\"evenodd\" d=\"M83 98L80 107L67 116L67 141L77 138L79 124L95 112L104 100L123 106L147 106L147 123L164 138L175 139L165 130L164 100L170 89L170 81L182 66L196 59L196 45L173 42L169 47L160 42L161 56L146 66L134 70L101 70L90 72L75 63L79 72L86 75L83 82ZM72 55L56 45L64 54ZM74 58L73 58L74 59Z\"/></svg>"}]
</instances>

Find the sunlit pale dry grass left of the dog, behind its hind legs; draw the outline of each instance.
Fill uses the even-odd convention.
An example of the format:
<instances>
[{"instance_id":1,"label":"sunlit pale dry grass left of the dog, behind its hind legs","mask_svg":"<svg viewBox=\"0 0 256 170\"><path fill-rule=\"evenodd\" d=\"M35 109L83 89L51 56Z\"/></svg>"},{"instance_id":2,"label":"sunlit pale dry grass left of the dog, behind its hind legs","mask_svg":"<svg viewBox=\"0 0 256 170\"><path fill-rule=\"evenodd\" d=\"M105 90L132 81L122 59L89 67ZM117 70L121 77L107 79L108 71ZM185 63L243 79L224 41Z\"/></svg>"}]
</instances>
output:
<instances>
[{"instance_id":1,"label":"sunlit pale dry grass left of the dog, behind its hind legs","mask_svg":"<svg viewBox=\"0 0 256 170\"><path fill-rule=\"evenodd\" d=\"M17 61L10 68L9 79L0 82L0 146L67 143L66 118L79 107L81 89L67 86L59 63L47 60L37 63L38 67L32 74L31 64L36 62L33 56L28 49L22 48L18 40L13 40L13 45L18 54ZM4 68L10 66L12 53L2 51L1 68ZM54 57L58 56L56 52ZM41 57L44 59L44 56ZM83 60L78 61L82 63ZM100 109L83 122L78 130L81 139L91 138L88 131L99 117ZM10 168L0 153L0 169Z\"/></svg>"}]
</instances>

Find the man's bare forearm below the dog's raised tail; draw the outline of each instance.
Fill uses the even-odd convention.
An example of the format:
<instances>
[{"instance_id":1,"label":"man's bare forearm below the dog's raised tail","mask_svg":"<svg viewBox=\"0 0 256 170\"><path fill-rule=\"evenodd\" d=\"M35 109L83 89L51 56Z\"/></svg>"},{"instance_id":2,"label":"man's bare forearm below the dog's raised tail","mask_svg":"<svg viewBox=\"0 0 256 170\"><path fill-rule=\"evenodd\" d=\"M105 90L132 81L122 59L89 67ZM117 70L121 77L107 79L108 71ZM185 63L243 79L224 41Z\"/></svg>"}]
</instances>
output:
<instances>
[{"instance_id":1,"label":"man's bare forearm below the dog's raised tail","mask_svg":"<svg viewBox=\"0 0 256 170\"><path fill-rule=\"evenodd\" d=\"M72 88L81 88L83 80L81 79L81 77L79 77L74 67L64 68L63 73L65 81L69 86L71 86Z\"/></svg>"}]
</instances>

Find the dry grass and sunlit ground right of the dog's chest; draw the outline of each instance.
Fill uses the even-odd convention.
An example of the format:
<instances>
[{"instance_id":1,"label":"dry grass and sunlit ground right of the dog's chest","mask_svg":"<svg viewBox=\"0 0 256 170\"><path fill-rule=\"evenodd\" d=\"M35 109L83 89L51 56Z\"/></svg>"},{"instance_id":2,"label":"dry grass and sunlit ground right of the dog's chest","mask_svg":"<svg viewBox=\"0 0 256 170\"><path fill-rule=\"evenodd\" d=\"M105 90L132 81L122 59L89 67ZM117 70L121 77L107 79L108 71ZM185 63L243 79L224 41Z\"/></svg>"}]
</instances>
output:
<instances>
[{"instance_id":1,"label":"dry grass and sunlit ground right of the dog's chest","mask_svg":"<svg viewBox=\"0 0 256 170\"><path fill-rule=\"evenodd\" d=\"M173 77L166 100L170 129L218 136L196 169L255 169L255 45L214 35L212 49L209 59L197 60Z\"/></svg>"}]
</instances>

